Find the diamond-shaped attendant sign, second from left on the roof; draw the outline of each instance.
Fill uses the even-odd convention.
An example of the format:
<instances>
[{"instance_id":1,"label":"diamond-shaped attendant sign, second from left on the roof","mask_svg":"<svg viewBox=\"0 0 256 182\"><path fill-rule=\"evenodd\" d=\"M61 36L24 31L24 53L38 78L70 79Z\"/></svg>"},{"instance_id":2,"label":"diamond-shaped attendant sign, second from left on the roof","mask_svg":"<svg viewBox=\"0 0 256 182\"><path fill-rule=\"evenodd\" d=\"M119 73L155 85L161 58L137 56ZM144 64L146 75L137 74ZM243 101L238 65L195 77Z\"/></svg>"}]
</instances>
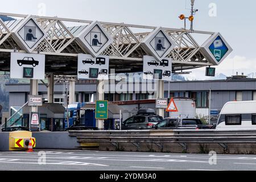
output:
<instances>
[{"instance_id":1,"label":"diamond-shaped attendant sign, second from left on the roof","mask_svg":"<svg viewBox=\"0 0 256 182\"><path fill-rule=\"evenodd\" d=\"M76 39L85 51L94 57L113 43L113 38L97 21L89 24Z\"/></svg>"}]
</instances>

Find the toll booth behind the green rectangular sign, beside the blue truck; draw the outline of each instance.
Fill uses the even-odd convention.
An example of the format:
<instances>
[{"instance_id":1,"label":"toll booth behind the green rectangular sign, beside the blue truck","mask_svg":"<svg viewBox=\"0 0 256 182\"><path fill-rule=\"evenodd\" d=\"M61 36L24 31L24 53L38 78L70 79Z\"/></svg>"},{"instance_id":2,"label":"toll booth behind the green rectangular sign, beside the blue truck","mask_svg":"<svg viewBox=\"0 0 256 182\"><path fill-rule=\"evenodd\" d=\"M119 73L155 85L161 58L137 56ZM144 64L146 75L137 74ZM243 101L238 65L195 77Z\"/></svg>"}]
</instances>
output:
<instances>
[{"instance_id":1,"label":"toll booth behind the green rectangular sign, beside the blue truck","mask_svg":"<svg viewBox=\"0 0 256 182\"><path fill-rule=\"evenodd\" d=\"M81 107L81 113L84 113L84 117L81 117L81 120L86 127L96 127L95 108L96 108L95 104L86 104L85 106ZM104 130L119 129L119 121L120 121L119 106L115 104L110 104L108 119L105 119L104 121Z\"/></svg>"}]
</instances>

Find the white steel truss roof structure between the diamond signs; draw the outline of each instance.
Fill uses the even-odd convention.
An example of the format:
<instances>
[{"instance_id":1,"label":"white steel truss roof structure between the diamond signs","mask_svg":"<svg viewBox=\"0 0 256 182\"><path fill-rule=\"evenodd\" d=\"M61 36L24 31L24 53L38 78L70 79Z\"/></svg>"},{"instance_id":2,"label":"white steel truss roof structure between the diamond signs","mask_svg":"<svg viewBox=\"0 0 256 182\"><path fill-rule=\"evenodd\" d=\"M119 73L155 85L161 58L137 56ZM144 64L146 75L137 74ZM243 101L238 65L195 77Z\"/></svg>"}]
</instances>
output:
<instances>
[{"instance_id":1,"label":"white steel truss roof structure between the diamond signs","mask_svg":"<svg viewBox=\"0 0 256 182\"><path fill-rule=\"evenodd\" d=\"M10 69L10 52L26 52L13 38L13 30L27 15L0 13L15 17L8 22L0 21L0 61L1 71ZM46 72L55 74L76 75L77 54L87 53L77 42L76 36L84 30L89 20L67 19L57 17L33 16L47 33L46 38L34 49L34 53L46 55ZM70 24L81 24L70 26ZM110 69L122 69L126 72L142 71L143 56L147 55L141 43L156 27L139 26L124 23L100 22L112 36L114 42L102 55L110 56ZM69 26L67 26L67 24ZM164 28L164 31L176 43L175 49L168 53L173 61L173 71L193 69L213 65L203 56L200 45L194 38L196 34L211 36L214 32L190 31L176 28ZM63 68L52 68L52 64L65 64Z\"/></svg>"}]
</instances>

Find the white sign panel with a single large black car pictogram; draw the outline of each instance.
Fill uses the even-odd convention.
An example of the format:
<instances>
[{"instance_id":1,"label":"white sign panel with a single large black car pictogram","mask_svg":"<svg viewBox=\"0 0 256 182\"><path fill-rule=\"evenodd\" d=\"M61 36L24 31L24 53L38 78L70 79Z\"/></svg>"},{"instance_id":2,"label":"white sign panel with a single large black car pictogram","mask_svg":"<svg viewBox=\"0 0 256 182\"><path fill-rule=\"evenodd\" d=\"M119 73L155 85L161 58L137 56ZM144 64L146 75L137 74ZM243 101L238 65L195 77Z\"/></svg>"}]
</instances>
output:
<instances>
[{"instance_id":1,"label":"white sign panel with a single large black car pictogram","mask_svg":"<svg viewBox=\"0 0 256 182\"><path fill-rule=\"evenodd\" d=\"M44 80L46 56L32 53L11 53L11 78Z\"/></svg>"}]
</instances>

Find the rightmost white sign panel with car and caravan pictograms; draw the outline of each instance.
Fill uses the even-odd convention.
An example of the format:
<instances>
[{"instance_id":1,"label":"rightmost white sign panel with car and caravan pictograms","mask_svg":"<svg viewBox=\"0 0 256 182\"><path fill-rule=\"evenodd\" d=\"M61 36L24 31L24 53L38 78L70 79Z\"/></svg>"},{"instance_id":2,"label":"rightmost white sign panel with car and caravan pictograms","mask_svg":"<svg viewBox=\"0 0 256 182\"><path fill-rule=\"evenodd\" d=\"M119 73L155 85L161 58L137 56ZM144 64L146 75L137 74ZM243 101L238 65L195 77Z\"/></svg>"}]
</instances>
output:
<instances>
[{"instance_id":1,"label":"rightmost white sign panel with car and caravan pictograms","mask_svg":"<svg viewBox=\"0 0 256 182\"><path fill-rule=\"evenodd\" d=\"M143 79L172 81L172 59L158 61L152 56L143 56Z\"/></svg>"}]
</instances>

